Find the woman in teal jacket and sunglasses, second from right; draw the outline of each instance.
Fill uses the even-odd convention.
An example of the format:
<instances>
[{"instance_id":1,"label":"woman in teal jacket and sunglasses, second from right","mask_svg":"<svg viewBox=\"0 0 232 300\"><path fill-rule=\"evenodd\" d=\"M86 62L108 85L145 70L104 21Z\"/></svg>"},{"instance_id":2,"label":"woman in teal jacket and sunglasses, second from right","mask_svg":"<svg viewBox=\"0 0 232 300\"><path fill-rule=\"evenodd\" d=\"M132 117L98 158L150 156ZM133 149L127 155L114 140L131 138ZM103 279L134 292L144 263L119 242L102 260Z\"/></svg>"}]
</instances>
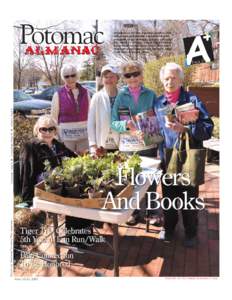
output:
<instances>
[{"instance_id":1,"label":"woman in teal jacket and sunglasses, second from right","mask_svg":"<svg viewBox=\"0 0 232 300\"><path fill-rule=\"evenodd\" d=\"M156 95L152 90L144 87L143 67L139 62L125 63L122 66L122 74L126 86L119 91L111 115L111 127L120 133L119 150L129 154L137 152L141 156L154 158L157 154L157 145L154 143L146 146L142 142L142 130L138 128L138 122L134 121L134 116L147 112L154 114L153 105ZM151 185L148 191L154 192L155 189L156 186ZM136 225L138 220L139 211L135 210L127 224ZM151 223L154 222L154 220L151 221Z\"/></svg>"}]
</instances>

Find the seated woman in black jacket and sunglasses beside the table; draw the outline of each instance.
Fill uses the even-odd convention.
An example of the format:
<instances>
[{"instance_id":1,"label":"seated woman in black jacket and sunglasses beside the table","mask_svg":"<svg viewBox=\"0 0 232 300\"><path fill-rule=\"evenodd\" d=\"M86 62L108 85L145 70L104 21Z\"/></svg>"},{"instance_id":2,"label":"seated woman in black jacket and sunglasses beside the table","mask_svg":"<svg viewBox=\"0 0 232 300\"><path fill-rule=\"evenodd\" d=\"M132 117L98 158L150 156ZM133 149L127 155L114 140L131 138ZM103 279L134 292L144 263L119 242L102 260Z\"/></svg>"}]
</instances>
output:
<instances>
[{"instance_id":1,"label":"seated woman in black jacket and sunglasses beside the table","mask_svg":"<svg viewBox=\"0 0 232 300\"><path fill-rule=\"evenodd\" d=\"M56 139L57 123L50 115L40 117L34 126L34 136L30 142L26 143L20 153L20 182L23 201L27 207L32 205L34 196L34 186L43 180L45 172L44 162L48 160L51 168L55 168L62 163L64 157L75 157L76 153L69 150L63 143ZM66 229L80 231L88 228L91 221L66 217ZM87 230L87 232L90 232ZM70 235L70 243L74 236L79 238L86 237L83 234ZM74 243L75 244L75 243Z\"/></svg>"}]
</instances>

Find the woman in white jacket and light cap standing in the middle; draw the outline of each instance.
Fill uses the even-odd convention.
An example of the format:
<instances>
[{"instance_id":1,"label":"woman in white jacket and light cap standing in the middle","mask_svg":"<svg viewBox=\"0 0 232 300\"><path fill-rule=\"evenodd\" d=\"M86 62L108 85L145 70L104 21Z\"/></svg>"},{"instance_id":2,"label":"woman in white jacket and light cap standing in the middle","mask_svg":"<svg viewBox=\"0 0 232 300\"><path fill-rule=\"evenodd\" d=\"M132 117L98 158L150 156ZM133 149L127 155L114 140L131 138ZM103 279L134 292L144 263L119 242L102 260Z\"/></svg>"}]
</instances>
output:
<instances>
[{"instance_id":1,"label":"woman in white jacket and light cap standing in the middle","mask_svg":"<svg viewBox=\"0 0 232 300\"><path fill-rule=\"evenodd\" d=\"M103 147L106 150L118 149L119 134L110 128L111 109L117 96L118 71L111 65L101 70L103 88L91 99L88 114L88 139L90 152Z\"/></svg>"}]
</instances>

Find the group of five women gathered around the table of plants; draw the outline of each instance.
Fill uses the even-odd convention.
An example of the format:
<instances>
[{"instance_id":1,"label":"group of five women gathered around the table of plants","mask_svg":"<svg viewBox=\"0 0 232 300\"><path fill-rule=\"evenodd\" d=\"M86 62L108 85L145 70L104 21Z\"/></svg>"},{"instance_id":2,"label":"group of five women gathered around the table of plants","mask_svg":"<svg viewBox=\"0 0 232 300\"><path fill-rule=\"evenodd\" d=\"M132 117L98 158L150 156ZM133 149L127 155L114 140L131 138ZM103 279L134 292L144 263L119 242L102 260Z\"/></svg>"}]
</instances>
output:
<instances>
[{"instance_id":1,"label":"group of five women gathered around the table of plants","mask_svg":"<svg viewBox=\"0 0 232 300\"><path fill-rule=\"evenodd\" d=\"M144 86L143 67L139 62L126 62L121 66L121 72L108 64L101 69L103 88L90 99L88 91L78 83L77 68L71 64L65 65L61 70L65 84L53 96L51 115L38 119L34 128L35 138L26 143L21 151L20 177L23 200L29 206L32 204L33 188L43 177L45 160L49 160L52 167L55 167L61 164L65 156L75 157L86 150L94 155L99 147L106 151L119 149L129 154L136 151L139 155L153 158L158 152L164 160L165 148L174 147L182 132L189 132L198 145L210 138L213 123L201 100L183 89L183 74L182 68L175 63L163 66L160 79L164 86L164 94L157 97L154 91ZM125 85L119 89L120 79ZM163 108L166 106L187 102L194 103L199 110L199 117L195 122L184 126L176 119L169 122L164 117ZM159 145L154 142L149 144L149 147L142 142L141 130L138 130L133 120L133 116L148 111L153 111L157 116L160 134L163 137ZM134 148L130 147L130 141ZM149 187L149 191L155 189L155 185ZM198 190L198 187L162 186L163 197L168 196L171 199L176 195L183 196L184 191L187 191L189 197L197 196ZM197 211L182 211L182 214L186 246L194 246L197 236ZM128 224L135 225L138 221L139 211L135 211ZM177 211L170 209L164 212L161 239L173 238L177 221ZM66 217L67 228L84 228L89 225L88 220Z\"/></svg>"}]
</instances>

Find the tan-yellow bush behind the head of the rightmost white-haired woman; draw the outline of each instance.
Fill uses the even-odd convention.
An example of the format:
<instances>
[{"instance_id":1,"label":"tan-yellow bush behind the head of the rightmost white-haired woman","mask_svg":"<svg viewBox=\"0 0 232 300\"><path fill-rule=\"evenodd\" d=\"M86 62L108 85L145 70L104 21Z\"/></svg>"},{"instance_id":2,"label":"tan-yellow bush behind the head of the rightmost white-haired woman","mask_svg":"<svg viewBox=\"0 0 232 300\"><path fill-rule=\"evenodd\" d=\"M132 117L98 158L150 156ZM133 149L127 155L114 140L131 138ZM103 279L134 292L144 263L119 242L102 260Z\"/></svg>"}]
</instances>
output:
<instances>
[{"instance_id":1,"label":"tan-yellow bush behind the head of the rightmost white-haired woman","mask_svg":"<svg viewBox=\"0 0 232 300\"><path fill-rule=\"evenodd\" d=\"M152 89L157 96L163 93L163 85L160 81L159 73L160 69L168 62L175 62L179 64L184 70L184 86L188 86L192 82L192 75L195 70L195 66L185 67L185 56L169 56L162 57L157 60L149 61L144 66L144 84L146 87Z\"/></svg>"}]
</instances>

